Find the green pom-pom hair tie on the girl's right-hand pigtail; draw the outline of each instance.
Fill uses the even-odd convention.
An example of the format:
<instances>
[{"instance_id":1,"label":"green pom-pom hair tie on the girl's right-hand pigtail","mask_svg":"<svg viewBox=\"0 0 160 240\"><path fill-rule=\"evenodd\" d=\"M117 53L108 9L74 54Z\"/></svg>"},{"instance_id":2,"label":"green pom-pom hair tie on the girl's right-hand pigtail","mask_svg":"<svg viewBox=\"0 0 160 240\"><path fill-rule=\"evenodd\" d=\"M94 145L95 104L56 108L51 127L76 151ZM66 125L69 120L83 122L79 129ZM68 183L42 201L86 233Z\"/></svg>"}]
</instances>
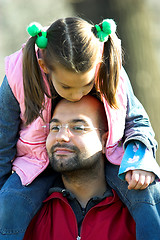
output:
<instances>
[{"instance_id":1,"label":"green pom-pom hair tie on the girl's right-hand pigtail","mask_svg":"<svg viewBox=\"0 0 160 240\"><path fill-rule=\"evenodd\" d=\"M113 19L104 19L102 22L102 27L96 24L96 36L99 38L99 41L108 41L109 35L116 32L116 27L117 26Z\"/></svg>"}]
</instances>

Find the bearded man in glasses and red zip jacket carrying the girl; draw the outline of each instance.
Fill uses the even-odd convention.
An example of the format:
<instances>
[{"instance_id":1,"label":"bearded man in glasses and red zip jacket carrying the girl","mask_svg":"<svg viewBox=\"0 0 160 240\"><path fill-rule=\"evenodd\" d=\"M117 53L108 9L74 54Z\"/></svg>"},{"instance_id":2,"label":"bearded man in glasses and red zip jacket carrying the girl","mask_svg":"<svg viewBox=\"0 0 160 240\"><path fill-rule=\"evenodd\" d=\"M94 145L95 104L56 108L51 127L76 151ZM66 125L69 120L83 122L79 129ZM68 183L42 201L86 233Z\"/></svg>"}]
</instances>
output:
<instances>
[{"instance_id":1,"label":"bearded man in glasses and red zip jacket carrying the girl","mask_svg":"<svg viewBox=\"0 0 160 240\"><path fill-rule=\"evenodd\" d=\"M135 223L105 179L107 122L93 96L61 100L50 122L46 147L60 173L24 240L132 240Z\"/></svg>"}]
</instances>

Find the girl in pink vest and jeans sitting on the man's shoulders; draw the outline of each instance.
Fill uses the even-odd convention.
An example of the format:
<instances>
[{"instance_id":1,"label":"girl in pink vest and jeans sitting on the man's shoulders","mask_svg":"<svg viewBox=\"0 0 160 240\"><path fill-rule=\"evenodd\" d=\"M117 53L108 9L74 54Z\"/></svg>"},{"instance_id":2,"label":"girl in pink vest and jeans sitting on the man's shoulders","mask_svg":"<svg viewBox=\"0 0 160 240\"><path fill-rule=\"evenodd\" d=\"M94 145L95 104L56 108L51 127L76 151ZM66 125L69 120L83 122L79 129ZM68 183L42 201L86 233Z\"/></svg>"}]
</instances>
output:
<instances>
[{"instance_id":1,"label":"girl in pink vest and jeans sitting on the man's shoulders","mask_svg":"<svg viewBox=\"0 0 160 240\"><path fill-rule=\"evenodd\" d=\"M137 239L159 239L160 186L152 183L160 176L157 143L122 67L115 31L111 19L95 26L76 17L59 19L46 31L33 23L26 45L6 58L0 89L1 240L23 239L53 185L45 140L56 98L78 101L93 89L108 119L107 181L135 219ZM118 169L128 183L118 178Z\"/></svg>"}]
</instances>

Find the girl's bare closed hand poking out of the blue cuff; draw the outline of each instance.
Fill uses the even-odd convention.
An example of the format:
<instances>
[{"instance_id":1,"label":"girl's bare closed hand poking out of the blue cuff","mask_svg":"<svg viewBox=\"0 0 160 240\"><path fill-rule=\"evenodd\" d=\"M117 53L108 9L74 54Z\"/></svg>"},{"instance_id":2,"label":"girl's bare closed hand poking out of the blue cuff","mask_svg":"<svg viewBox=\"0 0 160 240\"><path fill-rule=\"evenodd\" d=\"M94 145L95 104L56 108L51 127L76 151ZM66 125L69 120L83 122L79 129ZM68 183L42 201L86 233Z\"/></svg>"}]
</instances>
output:
<instances>
[{"instance_id":1,"label":"girl's bare closed hand poking out of the blue cuff","mask_svg":"<svg viewBox=\"0 0 160 240\"><path fill-rule=\"evenodd\" d=\"M144 170L130 170L126 173L125 180L129 184L129 190L143 190L155 180L155 174Z\"/></svg>"}]
</instances>

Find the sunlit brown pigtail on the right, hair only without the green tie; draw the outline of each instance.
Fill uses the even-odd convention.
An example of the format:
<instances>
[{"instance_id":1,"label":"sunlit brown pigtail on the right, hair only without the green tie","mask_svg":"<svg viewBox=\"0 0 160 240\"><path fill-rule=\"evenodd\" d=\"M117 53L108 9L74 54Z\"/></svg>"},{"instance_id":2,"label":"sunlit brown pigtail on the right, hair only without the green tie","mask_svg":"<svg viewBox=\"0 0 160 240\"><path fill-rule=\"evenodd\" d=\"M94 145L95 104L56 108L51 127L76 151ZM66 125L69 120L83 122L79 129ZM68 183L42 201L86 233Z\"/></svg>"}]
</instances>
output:
<instances>
[{"instance_id":1,"label":"sunlit brown pigtail on the right, hair only without the green tie","mask_svg":"<svg viewBox=\"0 0 160 240\"><path fill-rule=\"evenodd\" d=\"M116 39L117 40L117 39ZM116 92L120 77L121 54L112 36L104 43L96 85L111 107L118 108Z\"/></svg>"}]
</instances>

